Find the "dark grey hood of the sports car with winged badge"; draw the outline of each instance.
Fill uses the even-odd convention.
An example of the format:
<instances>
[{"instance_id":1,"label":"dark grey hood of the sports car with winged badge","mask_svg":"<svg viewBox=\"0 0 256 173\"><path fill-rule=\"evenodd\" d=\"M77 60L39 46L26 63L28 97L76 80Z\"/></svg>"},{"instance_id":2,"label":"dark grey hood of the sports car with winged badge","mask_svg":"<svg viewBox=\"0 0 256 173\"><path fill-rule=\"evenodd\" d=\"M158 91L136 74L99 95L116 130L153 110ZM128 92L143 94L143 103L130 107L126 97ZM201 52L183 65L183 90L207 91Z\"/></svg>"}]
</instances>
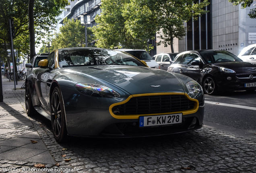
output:
<instances>
[{"instance_id":1,"label":"dark grey hood of the sports car with winged badge","mask_svg":"<svg viewBox=\"0 0 256 173\"><path fill-rule=\"evenodd\" d=\"M136 66L82 66L69 67L69 69L107 81L132 95L162 92L184 93L180 81L164 70Z\"/></svg>"}]
</instances>

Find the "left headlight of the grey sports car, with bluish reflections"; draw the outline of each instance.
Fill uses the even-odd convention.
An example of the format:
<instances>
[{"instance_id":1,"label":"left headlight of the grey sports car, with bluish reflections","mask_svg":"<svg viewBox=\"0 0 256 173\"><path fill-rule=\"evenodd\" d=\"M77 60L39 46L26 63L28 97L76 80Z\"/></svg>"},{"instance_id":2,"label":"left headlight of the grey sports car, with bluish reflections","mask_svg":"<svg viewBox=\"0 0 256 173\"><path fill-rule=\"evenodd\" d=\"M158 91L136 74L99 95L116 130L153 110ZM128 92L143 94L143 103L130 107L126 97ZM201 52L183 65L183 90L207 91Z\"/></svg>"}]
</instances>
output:
<instances>
[{"instance_id":1,"label":"left headlight of the grey sports car, with bluish reflections","mask_svg":"<svg viewBox=\"0 0 256 173\"><path fill-rule=\"evenodd\" d=\"M99 84L78 83L75 85L76 90L82 94L93 97L119 98L120 94L108 87Z\"/></svg>"}]
</instances>

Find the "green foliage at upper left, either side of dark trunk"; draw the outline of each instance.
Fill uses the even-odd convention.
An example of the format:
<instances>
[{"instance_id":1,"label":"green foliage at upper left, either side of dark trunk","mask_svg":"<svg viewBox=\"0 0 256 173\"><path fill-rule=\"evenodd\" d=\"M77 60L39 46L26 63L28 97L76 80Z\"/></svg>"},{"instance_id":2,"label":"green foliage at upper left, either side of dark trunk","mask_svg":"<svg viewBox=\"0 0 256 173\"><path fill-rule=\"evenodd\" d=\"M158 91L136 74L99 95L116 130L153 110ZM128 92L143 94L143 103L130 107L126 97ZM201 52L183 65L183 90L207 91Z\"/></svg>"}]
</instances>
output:
<instances>
[{"instance_id":1,"label":"green foliage at upper left, either side of dark trunk","mask_svg":"<svg viewBox=\"0 0 256 173\"><path fill-rule=\"evenodd\" d=\"M19 57L27 57L29 54L28 4L29 0L0 0L0 43L7 45L0 46L1 56L4 58L6 58L6 50L10 48L10 18L14 20L14 49L18 49ZM56 17L61 14L67 4L68 0L35 0L34 27L37 40L49 35L51 30L56 27L58 22Z\"/></svg>"}]
</instances>

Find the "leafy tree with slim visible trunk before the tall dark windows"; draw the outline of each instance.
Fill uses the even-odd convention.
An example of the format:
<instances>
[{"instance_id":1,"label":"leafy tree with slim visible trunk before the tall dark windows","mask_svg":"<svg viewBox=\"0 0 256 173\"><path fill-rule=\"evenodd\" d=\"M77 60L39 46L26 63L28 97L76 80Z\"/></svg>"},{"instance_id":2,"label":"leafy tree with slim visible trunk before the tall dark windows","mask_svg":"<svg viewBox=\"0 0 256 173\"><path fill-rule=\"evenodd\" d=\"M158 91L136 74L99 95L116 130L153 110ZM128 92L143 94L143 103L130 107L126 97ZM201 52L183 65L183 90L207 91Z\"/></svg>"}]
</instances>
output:
<instances>
[{"instance_id":1,"label":"leafy tree with slim visible trunk before the tall dark windows","mask_svg":"<svg viewBox=\"0 0 256 173\"><path fill-rule=\"evenodd\" d=\"M194 0L145 0L140 1L147 4L149 9L153 11L157 20L153 19L157 26L157 33L165 47L171 46L173 50L173 38L182 39L186 35L186 27L184 22L190 19L197 20L198 16L205 14L203 8L209 5L208 0L200 3L194 3Z\"/></svg>"}]
</instances>

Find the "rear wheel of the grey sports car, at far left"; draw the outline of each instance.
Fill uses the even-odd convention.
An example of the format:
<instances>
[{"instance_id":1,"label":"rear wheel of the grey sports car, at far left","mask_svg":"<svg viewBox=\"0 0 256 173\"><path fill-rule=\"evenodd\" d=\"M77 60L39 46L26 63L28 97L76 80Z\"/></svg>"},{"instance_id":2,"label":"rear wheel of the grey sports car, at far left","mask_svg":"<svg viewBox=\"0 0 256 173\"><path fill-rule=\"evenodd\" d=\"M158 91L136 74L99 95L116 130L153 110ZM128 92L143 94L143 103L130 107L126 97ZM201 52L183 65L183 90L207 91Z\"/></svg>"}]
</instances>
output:
<instances>
[{"instance_id":1,"label":"rear wheel of the grey sports car, at far left","mask_svg":"<svg viewBox=\"0 0 256 173\"><path fill-rule=\"evenodd\" d=\"M28 82L26 82L26 85L25 85L25 107L26 107L26 113L29 117L37 114L37 111L35 110L32 104L31 92L29 89Z\"/></svg>"}]
</instances>

